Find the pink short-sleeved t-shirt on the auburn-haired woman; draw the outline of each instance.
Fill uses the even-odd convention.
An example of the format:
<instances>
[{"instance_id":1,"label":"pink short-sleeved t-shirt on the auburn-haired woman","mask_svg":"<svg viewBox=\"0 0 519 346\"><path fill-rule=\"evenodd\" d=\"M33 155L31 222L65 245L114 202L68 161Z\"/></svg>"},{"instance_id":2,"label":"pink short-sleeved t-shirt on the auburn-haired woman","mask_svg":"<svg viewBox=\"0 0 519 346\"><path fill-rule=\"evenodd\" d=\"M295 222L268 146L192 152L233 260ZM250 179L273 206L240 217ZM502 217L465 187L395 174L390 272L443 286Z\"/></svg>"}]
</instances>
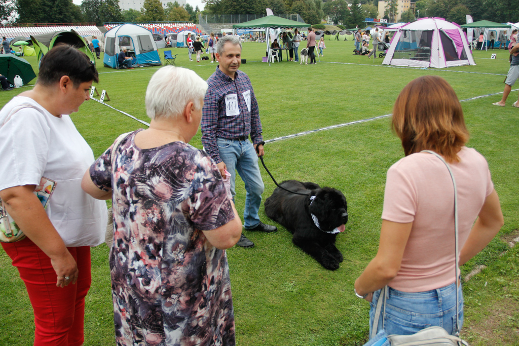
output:
<instances>
[{"instance_id":1,"label":"pink short-sleeved t-shirt on the auburn-haired woman","mask_svg":"<svg viewBox=\"0 0 519 346\"><path fill-rule=\"evenodd\" d=\"M476 150L463 147L458 156L460 162L449 165L458 190L461 250L494 184L485 158ZM424 292L454 282L454 188L439 158L416 153L391 166L382 218L413 222L400 271L388 284L390 287L403 292Z\"/></svg>"}]
</instances>

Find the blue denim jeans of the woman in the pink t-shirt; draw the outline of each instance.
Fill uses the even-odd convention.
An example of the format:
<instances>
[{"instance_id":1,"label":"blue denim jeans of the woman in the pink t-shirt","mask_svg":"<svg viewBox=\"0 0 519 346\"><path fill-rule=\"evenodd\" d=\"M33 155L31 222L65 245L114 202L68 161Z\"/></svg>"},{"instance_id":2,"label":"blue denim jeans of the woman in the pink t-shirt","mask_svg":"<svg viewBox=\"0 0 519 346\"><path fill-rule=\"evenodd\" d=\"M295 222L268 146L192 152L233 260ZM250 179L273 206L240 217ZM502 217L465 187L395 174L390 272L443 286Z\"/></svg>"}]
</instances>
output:
<instances>
[{"instance_id":1,"label":"blue denim jeans of the woman in the pink t-shirt","mask_svg":"<svg viewBox=\"0 0 519 346\"><path fill-rule=\"evenodd\" d=\"M463 325L463 293L458 289L458 323ZM381 290L373 293L370 303L370 336L372 335L375 310ZM429 290L426 292L408 293L389 287L389 297L386 300L386 314L383 326L384 305L380 311L377 333L384 328L386 333L411 335L418 331L439 326L455 335L456 326L456 287L455 283Z\"/></svg>"}]
</instances>

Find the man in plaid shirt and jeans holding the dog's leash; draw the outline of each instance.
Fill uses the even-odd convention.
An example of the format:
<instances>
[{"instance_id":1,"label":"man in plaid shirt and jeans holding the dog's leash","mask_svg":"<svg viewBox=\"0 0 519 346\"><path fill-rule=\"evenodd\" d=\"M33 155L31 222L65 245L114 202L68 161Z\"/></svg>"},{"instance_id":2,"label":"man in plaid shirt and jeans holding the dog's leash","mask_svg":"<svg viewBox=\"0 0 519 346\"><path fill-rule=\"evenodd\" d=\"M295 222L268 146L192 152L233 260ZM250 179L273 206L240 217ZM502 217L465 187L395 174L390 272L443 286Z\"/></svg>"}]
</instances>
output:
<instances>
[{"instance_id":1,"label":"man in plaid shirt and jeans holding the dog's leash","mask_svg":"<svg viewBox=\"0 0 519 346\"><path fill-rule=\"evenodd\" d=\"M228 170L231 194L236 195L236 171L245 183L243 227L251 231L275 232L277 228L260 221L261 195L265 186L258 166L258 157L265 151L260 110L249 77L238 68L241 64L241 42L238 36L223 36L216 44L220 65L209 77L209 89L203 99L202 144L225 177ZM252 143L248 137L251 136ZM256 147L258 153L256 154ZM237 245L254 246L243 234Z\"/></svg>"}]
</instances>

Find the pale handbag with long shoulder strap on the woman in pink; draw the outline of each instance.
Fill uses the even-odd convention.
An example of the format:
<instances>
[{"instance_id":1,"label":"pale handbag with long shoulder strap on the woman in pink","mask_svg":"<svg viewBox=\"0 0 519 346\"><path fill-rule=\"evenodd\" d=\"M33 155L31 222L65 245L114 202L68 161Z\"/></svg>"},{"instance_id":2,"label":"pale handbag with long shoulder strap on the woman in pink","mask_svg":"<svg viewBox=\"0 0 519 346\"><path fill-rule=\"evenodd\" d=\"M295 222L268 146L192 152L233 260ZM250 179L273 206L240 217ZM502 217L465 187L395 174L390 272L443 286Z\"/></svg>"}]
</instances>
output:
<instances>
[{"instance_id":1,"label":"pale handbag with long shoulder strap on the woman in pink","mask_svg":"<svg viewBox=\"0 0 519 346\"><path fill-rule=\"evenodd\" d=\"M462 340L459 337L459 328L458 328L458 291L459 287L457 285L458 278L459 278L459 268L458 268L458 193L456 190L456 181L454 179L454 174L450 170L449 165L443 157L440 155L434 153L434 151L431 150L422 150L422 153L430 153L438 157L440 160L442 160L443 163L445 163L450 177L453 180L454 184L454 233L455 233L455 239L456 239L456 245L455 245L455 259L456 259L456 280L454 281L456 284L456 335L452 336L450 335L444 328L438 327L438 326L432 326L425 329L422 329L418 331L415 334L412 335L387 335L384 331L384 317L386 314L386 297L389 295L389 287L385 286L381 289L380 296L377 301L377 307L375 309L375 317L373 320L373 328L372 328L372 340L377 337L378 339L384 339L387 338L387 341L389 341L391 346L419 346L419 345L427 345L427 346L468 346L469 344L467 341ZM384 303L382 302L384 300ZM377 333L377 327L378 327L378 320L380 318L380 312L382 310L382 307L384 305L383 318L382 318L382 330ZM370 340L370 341L372 341ZM367 344L370 344L369 342Z\"/></svg>"}]
</instances>

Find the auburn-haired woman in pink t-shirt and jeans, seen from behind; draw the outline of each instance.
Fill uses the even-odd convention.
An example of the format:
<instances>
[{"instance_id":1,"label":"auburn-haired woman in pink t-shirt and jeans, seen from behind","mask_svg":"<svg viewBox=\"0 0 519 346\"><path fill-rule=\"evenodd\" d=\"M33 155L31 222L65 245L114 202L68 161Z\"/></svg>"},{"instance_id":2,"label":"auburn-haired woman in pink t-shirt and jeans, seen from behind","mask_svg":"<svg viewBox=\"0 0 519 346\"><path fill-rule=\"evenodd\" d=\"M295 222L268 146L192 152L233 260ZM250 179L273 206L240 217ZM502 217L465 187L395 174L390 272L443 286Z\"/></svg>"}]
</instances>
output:
<instances>
[{"instance_id":1,"label":"auburn-haired woman in pink t-shirt and jeans, seen from behind","mask_svg":"<svg viewBox=\"0 0 519 346\"><path fill-rule=\"evenodd\" d=\"M469 133L456 93L442 78L411 81L398 96L392 127L405 157L387 173L377 255L355 282L355 293L371 303L370 335L381 288L389 286L377 332L410 335L441 326L454 335L456 321L454 193L458 191L459 264L479 253L503 225L488 164L467 148ZM477 219L477 220L476 220ZM475 221L475 223L474 223ZM463 296L459 289L459 329Z\"/></svg>"}]
</instances>

